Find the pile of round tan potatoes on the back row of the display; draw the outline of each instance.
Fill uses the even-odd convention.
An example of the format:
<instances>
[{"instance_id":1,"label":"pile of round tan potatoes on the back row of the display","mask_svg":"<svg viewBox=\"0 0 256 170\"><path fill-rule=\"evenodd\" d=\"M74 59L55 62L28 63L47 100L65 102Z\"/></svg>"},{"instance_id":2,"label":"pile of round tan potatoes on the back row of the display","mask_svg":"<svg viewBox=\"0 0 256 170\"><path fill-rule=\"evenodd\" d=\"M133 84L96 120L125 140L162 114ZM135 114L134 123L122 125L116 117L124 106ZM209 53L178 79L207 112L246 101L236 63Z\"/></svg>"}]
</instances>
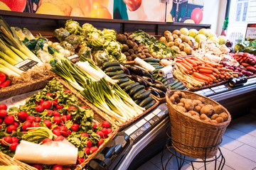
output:
<instances>
[{"instance_id":1,"label":"pile of round tan potatoes on the back row of the display","mask_svg":"<svg viewBox=\"0 0 256 170\"><path fill-rule=\"evenodd\" d=\"M188 37L183 35L180 30L174 30L171 33L169 30L164 31L164 36L159 39L161 42L166 42L166 45L171 47L171 50L176 50L178 55L191 55L194 42Z\"/></svg>"}]
</instances>

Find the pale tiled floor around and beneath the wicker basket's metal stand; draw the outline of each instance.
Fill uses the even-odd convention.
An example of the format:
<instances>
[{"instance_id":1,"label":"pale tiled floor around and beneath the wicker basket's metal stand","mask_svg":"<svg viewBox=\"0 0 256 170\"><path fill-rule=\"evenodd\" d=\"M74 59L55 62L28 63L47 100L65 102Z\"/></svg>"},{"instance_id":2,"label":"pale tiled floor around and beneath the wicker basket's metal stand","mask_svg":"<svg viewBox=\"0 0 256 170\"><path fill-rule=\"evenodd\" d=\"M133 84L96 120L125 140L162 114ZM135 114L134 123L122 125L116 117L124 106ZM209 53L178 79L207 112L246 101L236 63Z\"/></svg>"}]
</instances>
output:
<instances>
[{"instance_id":1,"label":"pale tiled floor around and beneath the wicker basket's metal stand","mask_svg":"<svg viewBox=\"0 0 256 170\"><path fill-rule=\"evenodd\" d=\"M224 170L256 170L256 114L251 113L244 115L240 118L232 120L228 126L225 134L223 135L223 142L220 146L221 152L225 157ZM164 166L170 157L170 153L164 154ZM219 159L220 161L220 159ZM218 164L220 163L218 161ZM193 164L195 169L203 170L202 163ZM210 162L206 165L209 170L214 169L215 163ZM155 157L151 158L148 162L140 166L137 170L160 170L161 152ZM166 166L166 169L178 169L176 159L173 158ZM182 170L193 169L191 164L185 162Z\"/></svg>"}]
</instances>

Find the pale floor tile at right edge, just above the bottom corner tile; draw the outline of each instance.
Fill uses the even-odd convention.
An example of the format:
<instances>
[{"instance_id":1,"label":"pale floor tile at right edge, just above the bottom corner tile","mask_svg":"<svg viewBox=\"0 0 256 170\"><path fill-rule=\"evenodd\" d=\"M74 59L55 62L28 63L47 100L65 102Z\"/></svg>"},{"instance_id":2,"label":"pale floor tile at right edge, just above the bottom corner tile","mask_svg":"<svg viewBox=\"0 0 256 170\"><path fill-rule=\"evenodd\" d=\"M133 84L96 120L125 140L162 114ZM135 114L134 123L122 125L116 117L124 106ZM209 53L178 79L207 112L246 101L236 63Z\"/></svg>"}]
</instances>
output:
<instances>
[{"instance_id":1,"label":"pale floor tile at right edge, just above the bottom corner tile","mask_svg":"<svg viewBox=\"0 0 256 170\"><path fill-rule=\"evenodd\" d=\"M250 147L249 145L242 145L242 147L238 147L238 149L233 150L233 152L242 155L242 157L246 157L247 159L256 162L256 148Z\"/></svg>"}]
</instances>

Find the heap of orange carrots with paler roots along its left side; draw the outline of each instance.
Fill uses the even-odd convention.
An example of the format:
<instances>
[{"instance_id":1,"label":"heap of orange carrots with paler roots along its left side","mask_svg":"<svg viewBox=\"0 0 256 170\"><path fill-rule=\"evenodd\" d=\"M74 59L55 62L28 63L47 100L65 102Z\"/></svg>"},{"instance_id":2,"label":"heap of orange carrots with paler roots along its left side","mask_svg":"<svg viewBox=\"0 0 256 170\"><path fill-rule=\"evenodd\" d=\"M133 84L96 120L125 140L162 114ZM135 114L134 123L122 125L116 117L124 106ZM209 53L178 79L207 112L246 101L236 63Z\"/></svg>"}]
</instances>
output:
<instances>
[{"instance_id":1,"label":"heap of orange carrots with paler roots along its left side","mask_svg":"<svg viewBox=\"0 0 256 170\"><path fill-rule=\"evenodd\" d=\"M238 72L223 67L222 64L210 63L196 57L176 58L174 76L179 77L189 88L225 81L237 77Z\"/></svg>"}]
</instances>

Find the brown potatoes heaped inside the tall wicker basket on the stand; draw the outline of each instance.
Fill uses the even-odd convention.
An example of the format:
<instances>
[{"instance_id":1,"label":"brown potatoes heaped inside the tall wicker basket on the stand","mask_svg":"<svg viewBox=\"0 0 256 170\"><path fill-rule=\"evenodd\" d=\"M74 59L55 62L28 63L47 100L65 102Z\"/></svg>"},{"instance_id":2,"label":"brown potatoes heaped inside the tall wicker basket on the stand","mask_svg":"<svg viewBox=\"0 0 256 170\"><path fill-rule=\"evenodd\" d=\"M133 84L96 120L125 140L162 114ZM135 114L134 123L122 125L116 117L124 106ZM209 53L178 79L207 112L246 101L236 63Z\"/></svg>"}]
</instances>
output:
<instances>
[{"instance_id":1,"label":"brown potatoes heaped inside the tall wicker basket on the stand","mask_svg":"<svg viewBox=\"0 0 256 170\"><path fill-rule=\"evenodd\" d=\"M205 99L201 97L191 100L186 98L185 93L175 91L170 97L170 101L179 111L191 115L196 119L201 119L213 124L223 123L228 120L228 114L224 112L223 106L206 104Z\"/></svg>"}]
</instances>

